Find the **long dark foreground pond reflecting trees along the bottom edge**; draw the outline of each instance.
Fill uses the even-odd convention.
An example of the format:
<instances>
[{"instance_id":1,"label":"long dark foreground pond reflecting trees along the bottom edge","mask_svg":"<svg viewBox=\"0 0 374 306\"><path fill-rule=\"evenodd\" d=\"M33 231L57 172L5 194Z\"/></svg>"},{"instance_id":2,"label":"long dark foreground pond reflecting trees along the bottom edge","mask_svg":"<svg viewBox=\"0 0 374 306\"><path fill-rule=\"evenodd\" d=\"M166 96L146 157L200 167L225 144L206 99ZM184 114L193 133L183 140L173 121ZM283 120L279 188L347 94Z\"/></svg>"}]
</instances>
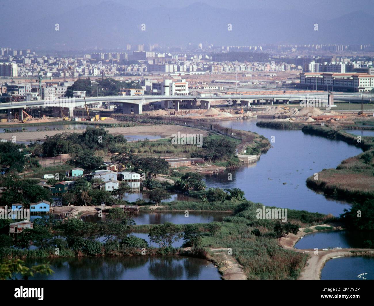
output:
<instances>
[{"instance_id":1,"label":"long dark foreground pond reflecting trees along the bottom edge","mask_svg":"<svg viewBox=\"0 0 374 306\"><path fill-rule=\"evenodd\" d=\"M36 275L30 279L220 279L218 270L211 262L181 256L37 259L27 260L26 264L31 266L48 261L55 273Z\"/></svg>"}]
</instances>

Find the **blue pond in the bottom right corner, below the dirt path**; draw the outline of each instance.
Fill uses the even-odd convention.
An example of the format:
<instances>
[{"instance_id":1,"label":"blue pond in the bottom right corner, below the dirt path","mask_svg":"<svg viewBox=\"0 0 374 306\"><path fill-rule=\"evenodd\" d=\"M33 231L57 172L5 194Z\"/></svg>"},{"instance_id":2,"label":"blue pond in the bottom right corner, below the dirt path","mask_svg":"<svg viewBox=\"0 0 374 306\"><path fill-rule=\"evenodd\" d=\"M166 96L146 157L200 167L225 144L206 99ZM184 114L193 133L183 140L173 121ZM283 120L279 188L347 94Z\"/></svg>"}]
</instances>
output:
<instances>
[{"instance_id":1,"label":"blue pond in the bottom right corner, below the dirt path","mask_svg":"<svg viewBox=\"0 0 374 306\"><path fill-rule=\"evenodd\" d=\"M330 259L321 271L321 280L362 280L357 277L361 273L368 273L366 279L374 279L374 257Z\"/></svg>"}]
</instances>

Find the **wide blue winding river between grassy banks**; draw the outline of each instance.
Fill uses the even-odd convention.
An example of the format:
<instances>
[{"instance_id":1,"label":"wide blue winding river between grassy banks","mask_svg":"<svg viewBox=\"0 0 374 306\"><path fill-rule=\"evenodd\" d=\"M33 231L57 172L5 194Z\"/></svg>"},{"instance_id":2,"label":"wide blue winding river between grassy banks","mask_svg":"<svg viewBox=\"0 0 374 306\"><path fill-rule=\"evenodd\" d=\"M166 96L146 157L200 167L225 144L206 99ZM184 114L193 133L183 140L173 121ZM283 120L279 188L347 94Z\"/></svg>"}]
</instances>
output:
<instances>
[{"instance_id":1,"label":"wide blue winding river between grassy banks","mask_svg":"<svg viewBox=\"0 0 374 306\"><path fill-rule=\"evenodd\" d=\"M275 130L257 127L257 120L225 121L222 126L250 130L269 140L273 148L261 155L255 166L244 166L205 177L208 187L240 188L245 197L266 206L307 210L338 216L350 205L328 200L306 186L306 179L322 169L335 168L361 149L340 140L306 135L300 130ZM228 173L232 180L228 180ZM285 184L283 184L285 183Z\"/></svg>"}]
</instances>

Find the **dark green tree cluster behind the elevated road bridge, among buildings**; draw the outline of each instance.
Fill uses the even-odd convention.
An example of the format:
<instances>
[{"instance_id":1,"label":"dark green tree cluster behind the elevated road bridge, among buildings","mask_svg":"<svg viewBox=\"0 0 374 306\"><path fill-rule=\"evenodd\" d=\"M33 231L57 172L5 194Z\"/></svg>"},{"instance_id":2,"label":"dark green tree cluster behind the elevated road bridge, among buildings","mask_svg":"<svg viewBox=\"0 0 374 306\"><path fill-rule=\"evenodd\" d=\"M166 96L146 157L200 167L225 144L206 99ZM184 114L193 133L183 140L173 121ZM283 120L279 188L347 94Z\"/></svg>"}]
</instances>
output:
<instances>
[{"instance_id":1,"label":"dark green tree cluster behind the elevated road bridge, among buildings","mask_svg":"<svg viewBox=\"0 0 374 306\"><path fill-rule=\"evenodd\" d=\"M87 97L96 96L117 96L123 88L136 88L141 89L138 82L131 81L118 81L113 78L105 78L91 82L90 78L78 79L74 82L73 86L69 86L65 92L66 97L72 97L74 90L85 90Z\"/></svg>"}]
</instances>

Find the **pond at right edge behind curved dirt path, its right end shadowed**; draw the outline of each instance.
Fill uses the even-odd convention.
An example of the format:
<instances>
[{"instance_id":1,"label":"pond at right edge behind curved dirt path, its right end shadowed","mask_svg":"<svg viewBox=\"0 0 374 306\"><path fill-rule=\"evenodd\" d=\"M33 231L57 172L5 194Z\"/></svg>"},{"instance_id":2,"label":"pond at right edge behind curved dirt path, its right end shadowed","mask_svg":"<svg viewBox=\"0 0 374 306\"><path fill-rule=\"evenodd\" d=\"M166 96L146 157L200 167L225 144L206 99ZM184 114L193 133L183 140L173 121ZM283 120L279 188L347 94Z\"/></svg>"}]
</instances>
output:
<instances>
[{"instance_id":1,"label":"pond at right edge behind curved dirt path, its right end shadowed","mask_svg":"<svg viewBox=\"0 0 374 306\"><path fill-rule=\"evenodd\" d=\"M364 241L374 242L374 231L331 231L308 234L300 239L295 248L366 248Z\"/></svg>"}]
</instances>

